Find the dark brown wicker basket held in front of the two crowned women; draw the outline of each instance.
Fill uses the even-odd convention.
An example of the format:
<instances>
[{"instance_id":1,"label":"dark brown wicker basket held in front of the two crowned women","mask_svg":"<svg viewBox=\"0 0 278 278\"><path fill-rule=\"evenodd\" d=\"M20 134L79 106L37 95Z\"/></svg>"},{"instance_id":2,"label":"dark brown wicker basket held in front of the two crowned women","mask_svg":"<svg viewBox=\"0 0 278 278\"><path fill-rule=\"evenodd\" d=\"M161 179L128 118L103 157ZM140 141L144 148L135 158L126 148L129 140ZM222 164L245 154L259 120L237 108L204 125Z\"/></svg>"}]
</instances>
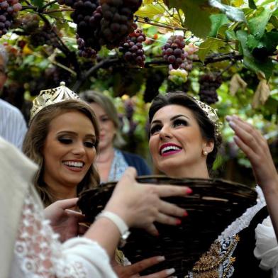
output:
<instances>
[{"instance_id":1,"label":"dark brown wicker basket held in front of the two crowned women","mask_svg":"<svg viewBox=\"0 0 278 278\"><path fill-rule=\"evenodd\" d=\"M208 250L211 243L247 208L256 203L257 193L243 184L223 179L172 179L165 176L138 177L138 182L152 184L187 185L193 194L187 197L169 197L170 201L186 208L189 216L179 226L156 223L160 236L154 237L141 229L132 229L123 252L130 262L154 255L164 255L166 261L150 267L143 274L174 267L175 276L185 274ZM97 189L84 191L78 201L82 213L90 222L111 197L116 182L102 184Z\"/></svg>"}]
</instances>

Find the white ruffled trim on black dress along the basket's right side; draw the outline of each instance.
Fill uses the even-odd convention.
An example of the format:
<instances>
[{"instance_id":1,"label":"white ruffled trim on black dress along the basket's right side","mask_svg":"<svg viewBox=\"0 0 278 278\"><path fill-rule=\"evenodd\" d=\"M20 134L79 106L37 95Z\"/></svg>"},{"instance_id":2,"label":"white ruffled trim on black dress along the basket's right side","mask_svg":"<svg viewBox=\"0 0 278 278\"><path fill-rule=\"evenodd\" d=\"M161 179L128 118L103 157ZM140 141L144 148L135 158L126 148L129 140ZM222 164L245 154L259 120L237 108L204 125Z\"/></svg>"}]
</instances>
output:
<instances>
[{"instance_id":1,"label":"white ruffled trim on black dress along the basket's right side","mask_svg":"<svg viewBox=\"0 0 278 278\"><path fill-rule=\"evenodd\" d=\"M218 240L233 237L233 235L239 233L240 230L248 227L256 213L266 205L265 197L262 194L262 189L260 189L259 186L256 186L256 191L258 196L257 204L255 204L255 206L251 206L245 211L245 213L243 213L242 216L236 218L235 221L233 221L233 223L231 223L225 230L223 230L221 235L218 236Z\"/></svg>"}]
</instances>

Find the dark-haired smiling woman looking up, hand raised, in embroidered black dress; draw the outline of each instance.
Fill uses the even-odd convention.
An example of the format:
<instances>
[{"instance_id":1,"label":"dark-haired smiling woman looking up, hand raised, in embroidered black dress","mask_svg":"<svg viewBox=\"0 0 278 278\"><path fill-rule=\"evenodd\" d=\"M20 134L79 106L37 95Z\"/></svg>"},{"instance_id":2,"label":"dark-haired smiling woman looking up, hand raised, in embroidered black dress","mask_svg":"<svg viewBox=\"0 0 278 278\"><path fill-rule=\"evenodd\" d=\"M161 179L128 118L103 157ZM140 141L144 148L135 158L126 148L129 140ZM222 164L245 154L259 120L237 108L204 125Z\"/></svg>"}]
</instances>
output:
<instances>
[{"instance_id":1,"label":"dark-haired smiling woman looking up, hand raised, in embroidered black dress","mask_svg":"<svg viewBox=\"0 0 278 278\"><path fill-rule=\"evenodd\" d=\"M277 169L267 140L258 130L238 116L226 119L235 132L235 143L250 160L259 198L255 206L223 230L187 277L278 277L278 246L274 233L276 230L278 235ZM149 121L149 147L157 169L169 177L211 177L221 146L220 122L215 109L177 91L155 97ZM267 209L274 230L269 220L260 224L268 216ZM268 233L265 230L269 230ZM262 260L261 264L256 257Z\"/></svg>"}]
</instances>

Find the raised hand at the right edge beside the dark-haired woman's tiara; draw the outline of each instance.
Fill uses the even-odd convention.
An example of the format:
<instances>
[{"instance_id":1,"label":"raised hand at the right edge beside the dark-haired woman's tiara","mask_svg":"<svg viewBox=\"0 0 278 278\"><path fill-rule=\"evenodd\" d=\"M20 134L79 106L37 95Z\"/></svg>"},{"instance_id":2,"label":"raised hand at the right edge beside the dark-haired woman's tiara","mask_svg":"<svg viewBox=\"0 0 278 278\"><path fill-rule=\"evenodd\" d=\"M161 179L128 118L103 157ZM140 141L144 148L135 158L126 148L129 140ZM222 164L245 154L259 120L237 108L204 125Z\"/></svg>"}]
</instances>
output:
<instances>
[{"instance_id":1,"label":"raised hand at the right edge beside the dark-haired woman's tiara","mask_svg":"<svg viewBox=\"0 0 278 278\"><path fill-rule=\"evenodd\" d=\"M235 143L250 160L257 184L263 191L272 191L272 184L277 187L278 174L267 140L259 130L238 116L227 116L226 119L235 131Z\"/></svg>"}]
</instances>

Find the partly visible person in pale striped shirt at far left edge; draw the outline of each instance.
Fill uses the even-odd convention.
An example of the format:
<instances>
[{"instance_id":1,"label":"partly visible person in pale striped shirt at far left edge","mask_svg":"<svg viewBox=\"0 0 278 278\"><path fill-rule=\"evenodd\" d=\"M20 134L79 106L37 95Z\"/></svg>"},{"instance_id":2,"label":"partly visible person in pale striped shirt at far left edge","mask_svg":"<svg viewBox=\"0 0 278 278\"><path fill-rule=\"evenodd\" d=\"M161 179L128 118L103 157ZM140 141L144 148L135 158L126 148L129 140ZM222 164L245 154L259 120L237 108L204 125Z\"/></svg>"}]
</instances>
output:
<instances>
[{"instance_id":1,"label":"partly visible person in pale striped shirt at far left edge","mask_svg":"<svg viewBox=\"0 0 278 278\"><path fill-rule=\"evenodd\" d=\"M0 91L7 79L8 55L4 45L0 45ZM26 134L26 121L19 109L0 99L0 135L21 149Z\"/></svg>"}]
</instances>

